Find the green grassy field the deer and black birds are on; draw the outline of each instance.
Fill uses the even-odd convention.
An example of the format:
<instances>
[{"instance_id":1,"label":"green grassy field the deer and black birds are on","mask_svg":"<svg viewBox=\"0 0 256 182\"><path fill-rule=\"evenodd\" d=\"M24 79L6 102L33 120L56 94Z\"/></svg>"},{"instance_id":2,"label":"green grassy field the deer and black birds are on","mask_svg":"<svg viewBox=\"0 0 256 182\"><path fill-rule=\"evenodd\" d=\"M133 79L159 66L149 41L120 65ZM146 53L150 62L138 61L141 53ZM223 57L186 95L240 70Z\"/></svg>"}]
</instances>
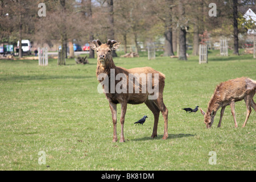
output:
<instances>
[{"instance_id":1,"label":"green grassy field the deer and black birds are on","mask_svg":"<svg viewBox=\"0 0 256 182\"><path fill-rule=\"evenodd\" d=\"M160 115L158 137L150 139L154 116L146 105L129 105L125 119L125 143L113 143L112 116L104 94L97 92L96 59L90 64L47 67L35 60L0 60L0 169L1 170L255 170L256 113L245 128L245 103L237 102L234 120L226 107L221 128L220 110L212 129L206 129L200 112L207 109L215 86L236 77L256 80L252 55L221 57L210 52L208 64L169 57L114 58L119 67L152 67L166 75L164 103L168 115L167 140L162 140ZM254 97L255 98L255 97ZM255 99L254 99L255 100ZM118 105L117 134L121 109ZM142 126L133 123L147 115ZM46 164L39 164L39 152ZM214 151L216 164L209 155ZM41 160L40 160L41 161Z\"/></svg>"}]
</instances>

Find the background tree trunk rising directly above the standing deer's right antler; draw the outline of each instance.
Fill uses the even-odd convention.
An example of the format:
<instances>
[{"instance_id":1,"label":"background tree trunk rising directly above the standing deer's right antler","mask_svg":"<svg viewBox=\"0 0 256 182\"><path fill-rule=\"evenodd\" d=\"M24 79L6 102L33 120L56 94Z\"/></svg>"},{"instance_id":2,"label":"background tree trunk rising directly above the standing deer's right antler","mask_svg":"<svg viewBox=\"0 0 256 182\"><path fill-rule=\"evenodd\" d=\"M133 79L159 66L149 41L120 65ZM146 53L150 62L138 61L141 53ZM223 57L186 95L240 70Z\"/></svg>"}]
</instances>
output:
<instances>
[{"instance_id":1,"label":"background tree trunk rising directly above the standing deer's right antler","mask_svg":"<svg viewBox=\"0 0 256 182\"><path fill-rule=\"evenodd\" d=\"M109 13L109 30L108 39L114 40L114 12L113 12L113 0L108 0L108 13ZM115 50L112 51L112 57L117 57Z\"/></svg>"}]
</instances>

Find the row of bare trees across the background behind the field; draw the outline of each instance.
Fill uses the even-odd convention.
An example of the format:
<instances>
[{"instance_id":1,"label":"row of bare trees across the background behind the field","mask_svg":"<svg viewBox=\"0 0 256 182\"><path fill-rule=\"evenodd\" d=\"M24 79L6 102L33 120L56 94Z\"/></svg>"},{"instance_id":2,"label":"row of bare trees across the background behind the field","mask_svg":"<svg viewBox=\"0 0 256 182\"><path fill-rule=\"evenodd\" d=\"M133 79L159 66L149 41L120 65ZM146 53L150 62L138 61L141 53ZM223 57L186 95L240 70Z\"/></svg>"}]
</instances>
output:
<instances>
[{"instance_id":1,"label":"row of bare trees across the background behind the field","mask_svg":"<svg viewBox=\"0 0 256 182\"><path fill-rule=\"evenodd\" d=\"M39 16L39 3L46 5L46 16ZM209 15L210 3L216 5L216 16ZM246 32L246 22L238 9L254 4L254 0L0 0L0 42L32 39L52 46L58 41L64 49L69 44L73 56L74 39L82 43L116 39L126 52L127 44L138 50L138 42L163 37L164 56L177 52L179 59L187 60L186 42L193 42L197 55L207 31L211 36L233 37L234 53L239 54L238 34ZM89 57L94 57L93 50Z\"/></svg>"}]
</instances>

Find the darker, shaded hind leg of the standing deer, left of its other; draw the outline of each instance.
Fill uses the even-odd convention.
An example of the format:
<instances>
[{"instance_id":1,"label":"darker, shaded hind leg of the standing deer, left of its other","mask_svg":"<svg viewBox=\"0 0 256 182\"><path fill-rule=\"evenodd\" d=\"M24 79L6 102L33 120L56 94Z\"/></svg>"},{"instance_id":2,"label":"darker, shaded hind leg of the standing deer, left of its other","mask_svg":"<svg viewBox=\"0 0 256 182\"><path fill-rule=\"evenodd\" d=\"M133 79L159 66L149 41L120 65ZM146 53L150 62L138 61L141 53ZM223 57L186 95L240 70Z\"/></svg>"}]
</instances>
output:
<instances>
[{"instance_id":1,"label":"darker, shaded hind leg of the standing deer, left of its other","mask_svg":"<svg viewBox=\"0 0 256 182\"><path fill-rule=\"evenodd\" d=\"M151 138L155 138L158 136L158 120L159 120L160 110L155 105L153 100L146 100L145 104L147 105L148 109L150 109L151 112L154 114L154 127L153 127L153 133L151 135Z\"/></svg>"}]
</instances>

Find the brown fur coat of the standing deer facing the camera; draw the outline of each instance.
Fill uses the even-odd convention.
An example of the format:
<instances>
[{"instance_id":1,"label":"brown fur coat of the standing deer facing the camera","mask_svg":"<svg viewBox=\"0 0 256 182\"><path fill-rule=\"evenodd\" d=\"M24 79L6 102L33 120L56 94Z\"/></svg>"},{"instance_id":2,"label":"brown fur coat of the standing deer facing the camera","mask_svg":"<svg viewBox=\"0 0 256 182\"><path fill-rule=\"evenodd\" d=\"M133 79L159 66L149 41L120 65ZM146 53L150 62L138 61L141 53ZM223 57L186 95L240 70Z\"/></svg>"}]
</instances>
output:
<instances>
[{"instance_id":1,"label":"brown fur coat of the standing deer facing the camera","mask_svg":"<svg viewBox=\"0 0 256 182\"><path fill-rule=\"evenodd\" d=\"M96 69L96 75L100 73L106 73L110 77L110 69L115 70L115 76L118 73L123 73L126 75L127 78L127 93L110 93L110 87L109 87L109 93L105 93L106 98L109 101L109 107L112 111L112 120L114 125L114 134L113 134L113 142L117 141L117 104L121 104L121 138L120 142L125 142L125 138L123 135L123 123L125 122L125 114L126 114L126 108L127 104L142 104L145 103L147 107L152 111L154 114L154 128L151 135L151 138L154 138L157 136L157 127L158 127L158 119L159 119L159 113L162 112L162 115L164 117L164 135L163 139L168 138L168 132L167 132L167 123L168 123L168 109L164 105L163 102L163 89L164 89L164 79L165 76L163 73L160 73L158 71L155 71L154 69L150 67L143 67L143 68L132 68L132 69L126 69L121 67L116 67L113 61L113 58L111 56L111 53L114 49L116 49L120 43L117 43L115 40L108 40L106 44L102 44L99 40L93 40L93 42L89 42L90 47L97 51L97 69ZM152 73L152 88L154 86L159 86L159 96L156 100L148 100L148 96L150 96L150 93L148 93L148 90L146 93L142 93L142 85L148 84L148 82L144 82L142 79L139 81L139 93L129 93L129 73L144 73L147 76L147 73ZM159 74L159 85L154 85L154 74ZM101 81L100 81L101 82ZM115 85L119 80L115 81ZM109 79L109 85L110 85L110 79ZM135 90L135 84L133 84L133 89ZM154 93L153 93L154 94Z\"/></svg>"}]
</instances>

